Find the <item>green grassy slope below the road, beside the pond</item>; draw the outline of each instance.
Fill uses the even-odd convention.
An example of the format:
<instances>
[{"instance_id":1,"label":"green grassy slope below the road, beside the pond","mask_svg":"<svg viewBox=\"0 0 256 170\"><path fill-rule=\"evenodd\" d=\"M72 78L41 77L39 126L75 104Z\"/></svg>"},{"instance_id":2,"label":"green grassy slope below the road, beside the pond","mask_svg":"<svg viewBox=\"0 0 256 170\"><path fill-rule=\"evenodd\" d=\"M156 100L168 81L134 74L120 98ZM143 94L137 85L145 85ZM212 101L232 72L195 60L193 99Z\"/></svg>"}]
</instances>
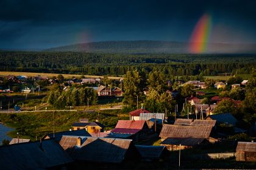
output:
<instances>
[{"instance_id":1,"label":"green grassy slope below the road, beside the pond","mask_svg":"<svg viewBox=\"0 0 256 170\"><path fill-rule=\"evenodd\" d=\"M106 126L106 129L115 127L118 120L128 120L129 115L121 113L121 110L102 110L101 112L33 112L0 114L0 120L7 126L15 127L15 131L10 132L10 137L16 137L16 133L21 134L21 138L35 140L35 136L42 137L47 132L68 131L79 118L89 118L95 121L99 113L99 122Z\"/></svg>"}]
</instances>

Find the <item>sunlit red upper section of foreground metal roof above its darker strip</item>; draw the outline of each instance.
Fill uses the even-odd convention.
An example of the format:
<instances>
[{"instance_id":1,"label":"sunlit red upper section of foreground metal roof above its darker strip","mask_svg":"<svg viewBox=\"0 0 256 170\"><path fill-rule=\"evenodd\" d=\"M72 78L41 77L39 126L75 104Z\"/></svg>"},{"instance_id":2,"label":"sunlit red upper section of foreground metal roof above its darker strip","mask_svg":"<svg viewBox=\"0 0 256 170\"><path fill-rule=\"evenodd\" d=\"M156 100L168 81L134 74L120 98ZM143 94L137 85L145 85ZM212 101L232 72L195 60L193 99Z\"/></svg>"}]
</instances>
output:
<instances>
[{"instance_id":1,"label":"sunlit red upper section of foreground metal roof above its darker strip","mask_svg":"<svg viewBox=\"0 0 256 170\"><path fill-rule=\"evenodd\" d=\"M118 120L115 128L121 129L143 129L144 120Z\"/></svg>"}]
</instances>

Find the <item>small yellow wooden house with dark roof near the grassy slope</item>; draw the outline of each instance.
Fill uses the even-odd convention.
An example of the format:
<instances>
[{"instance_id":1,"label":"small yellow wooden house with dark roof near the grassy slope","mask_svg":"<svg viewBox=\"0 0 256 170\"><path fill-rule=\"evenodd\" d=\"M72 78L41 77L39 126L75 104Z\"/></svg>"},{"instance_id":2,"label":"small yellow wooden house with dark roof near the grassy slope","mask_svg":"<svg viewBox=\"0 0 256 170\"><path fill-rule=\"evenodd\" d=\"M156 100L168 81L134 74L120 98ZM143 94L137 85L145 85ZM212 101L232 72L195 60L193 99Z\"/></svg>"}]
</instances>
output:
<instances>
[{"instance_id":1,"label":"small yellow wooden house with dark roof near the grassy slope","mask_svg":"<svg viewBox=\"0 0 256 170\"><path fill-rule=\"evenodd\" d=\"M104 132L104 125L99 123L98 121L93 122L75 122L72 125L74 131L79 129L85 129L90 134L95 134L98 132Z\"/></svg>"}]
</instances>

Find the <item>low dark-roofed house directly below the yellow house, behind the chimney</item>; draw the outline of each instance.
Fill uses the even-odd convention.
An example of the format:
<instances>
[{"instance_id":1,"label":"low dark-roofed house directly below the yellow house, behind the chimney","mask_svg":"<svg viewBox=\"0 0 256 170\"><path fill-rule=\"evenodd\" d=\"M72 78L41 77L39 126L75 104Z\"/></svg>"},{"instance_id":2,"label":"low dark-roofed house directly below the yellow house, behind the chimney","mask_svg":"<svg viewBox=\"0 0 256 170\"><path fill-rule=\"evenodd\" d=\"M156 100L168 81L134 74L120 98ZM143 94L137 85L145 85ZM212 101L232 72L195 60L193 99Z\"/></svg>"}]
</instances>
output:
<instances>
[{"instance_id":1,"label":"low dark-roofed house directly below the yellow house, behind the chimney","mask_svg":"<svg viewBox=\"0 0 256 170\"><path fill-rule=\"evenodd\" d=\"M62 131L62 132L54 132L54 133L49 133L43 136L42 139L54 139L55 141L60 141L63 135L69 135L69 136L79 136L83 135L85 137L90 137L91 135L85 131L85 129L80 129L77 131Z\"/></svg>"}]
</instances>

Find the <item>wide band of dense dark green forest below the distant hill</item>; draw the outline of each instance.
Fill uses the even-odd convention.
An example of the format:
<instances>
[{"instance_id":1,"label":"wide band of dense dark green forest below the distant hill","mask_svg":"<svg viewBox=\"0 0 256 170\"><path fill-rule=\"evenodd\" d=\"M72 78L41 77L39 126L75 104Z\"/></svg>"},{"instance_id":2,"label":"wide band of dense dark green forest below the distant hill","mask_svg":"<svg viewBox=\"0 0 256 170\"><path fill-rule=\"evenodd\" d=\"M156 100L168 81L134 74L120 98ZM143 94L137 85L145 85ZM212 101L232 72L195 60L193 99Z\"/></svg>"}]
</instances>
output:
<instances>
[{"instance_id":1,"label":"wide band of dense dark green forest below the distant hill","mask_svg":"<svg viewBox=\"0 0 256 170\"><path fill-rule=\"evenodd\" d=\"M126 74L138 69L148 74L218 75L251 73L256 55L231 54L124 54L82 52L0 52L0 71L72 73L84 75Z\"/></svg>"}]
</instances>

